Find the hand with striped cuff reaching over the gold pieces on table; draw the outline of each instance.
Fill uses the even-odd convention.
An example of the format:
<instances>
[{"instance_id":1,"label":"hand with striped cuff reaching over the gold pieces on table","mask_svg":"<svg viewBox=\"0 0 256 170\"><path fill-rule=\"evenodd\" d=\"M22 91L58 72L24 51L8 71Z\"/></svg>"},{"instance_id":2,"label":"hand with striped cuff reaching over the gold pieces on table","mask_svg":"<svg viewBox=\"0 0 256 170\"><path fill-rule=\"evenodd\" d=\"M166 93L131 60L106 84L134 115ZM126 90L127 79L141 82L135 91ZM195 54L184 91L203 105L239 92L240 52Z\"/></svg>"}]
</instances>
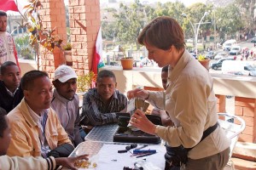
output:
<instances>
[{"instance_id":1,"label":"hand with striped cuff reaching over the gold pieces on table","mask_svg":"<svg viewBox=\"0 0 256 170\"><path fill-rule=\"evenodd\" d=\"M77 168L74 166L74 163L81 159L88 160L87 156L88 155L73 156L73 157L58 157L58 158L55 158L55 162L56 162L56 165L61 165L62 167L67 167L68 169L77 170Z\"/></svg>"}]
</instances>

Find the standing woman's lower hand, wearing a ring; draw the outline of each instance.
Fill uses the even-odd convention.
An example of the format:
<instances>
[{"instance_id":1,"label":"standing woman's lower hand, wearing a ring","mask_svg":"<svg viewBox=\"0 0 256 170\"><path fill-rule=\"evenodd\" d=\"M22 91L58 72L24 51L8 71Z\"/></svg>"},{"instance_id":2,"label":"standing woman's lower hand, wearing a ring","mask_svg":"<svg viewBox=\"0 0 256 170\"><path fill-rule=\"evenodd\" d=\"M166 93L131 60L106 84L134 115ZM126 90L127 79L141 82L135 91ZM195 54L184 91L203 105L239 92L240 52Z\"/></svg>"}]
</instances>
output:
<instances>
[{"instance_id":1,"label":"standing woman's lower hand, wearing a ring","mask_svg":"<svg viewBox=\"0 0 256 170\"><path fill-rule=\"evenodd\" d=\"M156 126L153 122L148 120L145 113L141 110L135 111L135 113L131 116L130 123L132 126L139 128L145 133L154 134Z\"/></svg>"}]
</instances>

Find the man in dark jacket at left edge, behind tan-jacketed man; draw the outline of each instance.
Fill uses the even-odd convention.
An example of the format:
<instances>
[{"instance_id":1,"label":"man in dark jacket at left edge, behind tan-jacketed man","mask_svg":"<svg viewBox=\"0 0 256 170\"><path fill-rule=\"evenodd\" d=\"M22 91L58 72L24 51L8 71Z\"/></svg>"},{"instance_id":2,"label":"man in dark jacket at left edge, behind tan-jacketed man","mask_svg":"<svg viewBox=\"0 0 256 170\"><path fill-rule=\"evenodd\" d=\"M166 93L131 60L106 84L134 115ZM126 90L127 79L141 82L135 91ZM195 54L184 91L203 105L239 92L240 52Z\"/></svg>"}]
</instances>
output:
<instances>
[{"instance_id":1,"label":"man in dark jacket at left edge, behind tan-jacketed man","mask_svg":"<svg viewBox=\"0 0 256 170\"><path fill-rule=\"evenodd\" d=\"M0 107L9 113L21 99L20 69L14 62L6 61L0 67Z\"/></svg>"}]
</instances>

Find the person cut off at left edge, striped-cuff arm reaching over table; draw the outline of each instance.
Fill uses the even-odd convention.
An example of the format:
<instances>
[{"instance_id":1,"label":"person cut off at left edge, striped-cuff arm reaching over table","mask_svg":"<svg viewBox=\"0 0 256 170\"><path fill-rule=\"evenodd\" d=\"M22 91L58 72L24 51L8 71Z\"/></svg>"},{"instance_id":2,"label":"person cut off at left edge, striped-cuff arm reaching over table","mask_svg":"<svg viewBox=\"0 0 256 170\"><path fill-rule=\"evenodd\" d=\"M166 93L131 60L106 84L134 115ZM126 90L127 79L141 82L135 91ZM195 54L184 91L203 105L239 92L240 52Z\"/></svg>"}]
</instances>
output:
<instances>
[{"instance_id":1,"label":"person cut off at left edge, striped-cuff arm reaching over table","mask_svg":"<svg viewBox=\"0 0 256 170\"><path fill-rule=\"evenodd\" d=\"M44 159L41 156L36 158L30 157L9 157L5 156L11 139L9 119L6 116L6 111L0 107L0 169L55 169L56 165L61 165L68 168L75 168L74 162L79 159L87 159L87 155L76 157L59 157L50 156Z\"/></svg>"}]
</instances>

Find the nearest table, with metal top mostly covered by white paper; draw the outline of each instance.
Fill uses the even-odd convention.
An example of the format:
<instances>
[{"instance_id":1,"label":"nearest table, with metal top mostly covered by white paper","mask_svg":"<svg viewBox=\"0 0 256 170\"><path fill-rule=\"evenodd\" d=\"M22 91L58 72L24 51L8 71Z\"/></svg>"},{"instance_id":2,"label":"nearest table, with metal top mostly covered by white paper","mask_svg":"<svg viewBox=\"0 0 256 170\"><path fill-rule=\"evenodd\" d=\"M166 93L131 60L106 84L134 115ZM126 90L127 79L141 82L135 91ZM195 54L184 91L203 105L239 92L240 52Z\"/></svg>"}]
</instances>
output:
<instances>
[{"instance_id":1,"label":"nearest table, with metal top mostly covered by white paper","mask_svg":"<svg viewBox=\"0 0 256 170\"><path fill-rule=\"evenodd\" d=\"M89 154L90 161L96 162L97 164L96 168L91 167L89 168L90 170L120 170L123 169L123 167L134 167L134 163L138 161L143 162L143 166L148 166L148 168L144 167L144 170L164 169L164 155L166 153L166 149L163 145L149 144L147 147L148 150L157 150L157 153L142 158L131 156L130 152L122 154L117 153L117 150L125 150L125 146L127 145L130 144L87 140L79 144L70 156ZM146 159L146 161L143 159ZM82 170L83 168L79 169Z\"/></svg>"}]
</instances>

